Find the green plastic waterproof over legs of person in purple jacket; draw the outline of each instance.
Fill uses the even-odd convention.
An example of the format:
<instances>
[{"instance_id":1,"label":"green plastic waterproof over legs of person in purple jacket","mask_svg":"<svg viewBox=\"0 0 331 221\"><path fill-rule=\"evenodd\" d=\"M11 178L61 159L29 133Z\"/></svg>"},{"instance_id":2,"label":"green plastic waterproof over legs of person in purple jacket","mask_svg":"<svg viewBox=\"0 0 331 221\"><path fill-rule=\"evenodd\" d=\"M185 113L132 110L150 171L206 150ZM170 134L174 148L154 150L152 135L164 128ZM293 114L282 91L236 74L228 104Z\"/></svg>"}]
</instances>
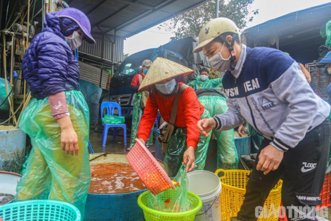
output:
<instances>
[{"instance_id":1,"label":"green plastic waterproof over legs of person in purple jacket","mask_svg":"<svg viewBox=\"0 0 331 221\"><path fill-rule=\"evenodd\" d=\"M77 206L84 217L91 179L87 150L89 109L80 91L70 90L65 94L78 136L79 155L71 156L62 150L60 125L53 119L48 97L31 100L19 127L30 136L33 148L15 200L61 200Z\"/></svg>"}]
</instances>

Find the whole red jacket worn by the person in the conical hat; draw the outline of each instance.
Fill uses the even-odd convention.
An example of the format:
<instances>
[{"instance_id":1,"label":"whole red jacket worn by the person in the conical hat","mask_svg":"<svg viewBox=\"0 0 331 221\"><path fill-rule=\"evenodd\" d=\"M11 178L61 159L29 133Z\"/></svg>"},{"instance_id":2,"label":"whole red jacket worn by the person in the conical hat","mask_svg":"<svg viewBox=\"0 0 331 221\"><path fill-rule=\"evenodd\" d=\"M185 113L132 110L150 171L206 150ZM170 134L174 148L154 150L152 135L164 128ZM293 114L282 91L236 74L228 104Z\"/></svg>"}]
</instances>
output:
<instances>
[{"instance_id":1,"label":"whole red jacket worn by the person in the conical hat","mask_svg":"<svg viewBox=\"0 0 331 221\"><path fill-rule=\"evenodd\" d=\"M180 83L182 85L183 83ZM157 109L164 121L169 122L173 103L176 95L167 97L158 92L151 91L147 98L146 107L140 120L138 135L139 139L146 141L157 116ZM187 128L187 145L197 147L199 132L197 123L201 119L205 107L199 102L196 92L192 87L187 87L178 99L178 112L175 126Z\"/></svg>"}]
</instances>

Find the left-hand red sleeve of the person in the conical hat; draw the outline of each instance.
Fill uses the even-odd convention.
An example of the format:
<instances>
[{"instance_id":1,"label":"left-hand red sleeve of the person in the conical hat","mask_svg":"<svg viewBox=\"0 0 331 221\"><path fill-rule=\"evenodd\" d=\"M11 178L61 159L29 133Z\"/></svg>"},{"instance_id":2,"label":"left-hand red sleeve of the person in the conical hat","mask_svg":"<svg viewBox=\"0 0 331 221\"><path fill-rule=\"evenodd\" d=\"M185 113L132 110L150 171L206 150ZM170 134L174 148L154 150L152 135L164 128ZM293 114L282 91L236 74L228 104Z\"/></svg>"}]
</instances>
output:
<instances>
[{"instance_id":1,"label":"left-hand red sleeve of the person in the conical hat","mask_svg":"<svg viewBox=\"0 0 331 221\"><path fill-rule=\"evenodd\" d=\"M138 139L143 139L145 142L148 140L150 131L157 117L157 109L158 106L155 100L155 96L149 95L146 101L146 107L143 111L143 115L139 123L137 134Z\"/></svg>"}]
</instances>

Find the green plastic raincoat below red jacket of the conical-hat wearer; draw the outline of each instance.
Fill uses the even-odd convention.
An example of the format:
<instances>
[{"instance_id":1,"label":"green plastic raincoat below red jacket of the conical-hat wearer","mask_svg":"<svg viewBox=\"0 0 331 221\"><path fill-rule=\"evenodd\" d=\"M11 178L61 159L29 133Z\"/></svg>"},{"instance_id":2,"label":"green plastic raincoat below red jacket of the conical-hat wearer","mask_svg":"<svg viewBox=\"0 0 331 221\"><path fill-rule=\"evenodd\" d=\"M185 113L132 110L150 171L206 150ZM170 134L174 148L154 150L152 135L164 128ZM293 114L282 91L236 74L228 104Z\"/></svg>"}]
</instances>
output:
<instances>
[{"instance_id":1,"label":"green plastic raincoat below red jacket of the conical-hat wearer","mask_svg":"<svg viewBox=\"0 0 331 221\"><path fill-rule=\"evenodd\" d=\"M210 118L207 109L205 109L205 112L201 116L201 119L204 118ZM184 152L187 150L186 134L186 128L176 128L170 139L168 150L165 152L164 167L170 177L176 176L182 165ZM205 168L209 141L210 136L204 137L200 135L199 143L195 151L195 164L197 166L195 170L203 170Z\"/></svg>"}]
</instances>

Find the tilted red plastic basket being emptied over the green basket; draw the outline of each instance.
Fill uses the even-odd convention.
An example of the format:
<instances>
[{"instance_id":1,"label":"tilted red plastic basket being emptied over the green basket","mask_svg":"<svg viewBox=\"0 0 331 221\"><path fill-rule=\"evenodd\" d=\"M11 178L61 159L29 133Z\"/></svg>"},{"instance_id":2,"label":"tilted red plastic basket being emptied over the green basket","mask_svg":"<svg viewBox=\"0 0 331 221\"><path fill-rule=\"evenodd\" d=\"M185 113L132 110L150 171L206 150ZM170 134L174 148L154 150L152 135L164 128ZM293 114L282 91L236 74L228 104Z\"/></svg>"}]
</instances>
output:
<instances>
[{"instance_id":1,"label":"tilted red plastic basket being emptied over the green basket","mask_svg":"<svg viewBox=\"0 0 331 221\"><path fill-rule=\"evenodd\" d=\"M135 141L136 143L127 154L126 159L145 186L154 195L169 188L175 189L167 173L157 163L145 145L138 139L135 139Z\"/></svg>"}]
</instances>

